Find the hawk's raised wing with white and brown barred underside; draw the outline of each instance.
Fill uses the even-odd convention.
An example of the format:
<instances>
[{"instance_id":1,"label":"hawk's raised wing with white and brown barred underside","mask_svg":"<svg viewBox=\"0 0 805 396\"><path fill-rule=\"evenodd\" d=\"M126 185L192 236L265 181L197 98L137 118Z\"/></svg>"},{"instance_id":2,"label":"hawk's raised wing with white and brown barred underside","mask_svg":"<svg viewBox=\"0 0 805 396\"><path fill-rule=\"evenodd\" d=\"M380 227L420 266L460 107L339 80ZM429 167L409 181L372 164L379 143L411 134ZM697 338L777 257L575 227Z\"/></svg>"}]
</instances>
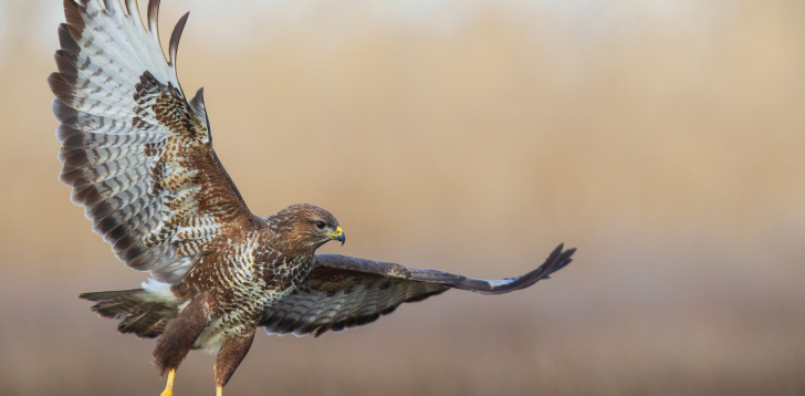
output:
<instances>
[{"instance_id":1,"label":"hawk's raised wing with white and brown barred underside","mask_svg":"<svg viewBox=\"0 0 805 396\"><path fill-rule=\"evenodd\" d=\"M176 75L187 14L166 61L159 1L144 25L136 0L64 1L59 67L48 79L63 145L60 179L127 265L177 282L205 252L262 227L212 150L202 92Z\"/></svg>"}]
</instances>

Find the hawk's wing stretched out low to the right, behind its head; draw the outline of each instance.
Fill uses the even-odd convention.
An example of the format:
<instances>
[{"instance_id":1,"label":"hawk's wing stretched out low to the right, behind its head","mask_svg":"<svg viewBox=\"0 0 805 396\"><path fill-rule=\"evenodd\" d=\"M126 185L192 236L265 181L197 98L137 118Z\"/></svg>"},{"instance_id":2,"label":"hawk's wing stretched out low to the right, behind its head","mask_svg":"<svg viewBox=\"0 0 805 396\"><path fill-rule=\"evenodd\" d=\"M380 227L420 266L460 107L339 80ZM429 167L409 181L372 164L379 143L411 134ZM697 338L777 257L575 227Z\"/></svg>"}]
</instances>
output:
<instances>
[{"instance_id":1,"label":"hawk's wing stretched out low to the right, behind its head","mask_svg":"<svg viewBox=\"0 0 805 396\"><path fill-rule=\"evenodd\" d=\"M269 334L313 333L365 325L394 312L404 302L425 300L450 288L484 294L525 289L561 270L576 249L560 244L545 263L522 277L495 281L435 270L408 269L338 254L316 257L316 267L290 295L271 306L259 322Z\"/></svg>"}]
</instances>

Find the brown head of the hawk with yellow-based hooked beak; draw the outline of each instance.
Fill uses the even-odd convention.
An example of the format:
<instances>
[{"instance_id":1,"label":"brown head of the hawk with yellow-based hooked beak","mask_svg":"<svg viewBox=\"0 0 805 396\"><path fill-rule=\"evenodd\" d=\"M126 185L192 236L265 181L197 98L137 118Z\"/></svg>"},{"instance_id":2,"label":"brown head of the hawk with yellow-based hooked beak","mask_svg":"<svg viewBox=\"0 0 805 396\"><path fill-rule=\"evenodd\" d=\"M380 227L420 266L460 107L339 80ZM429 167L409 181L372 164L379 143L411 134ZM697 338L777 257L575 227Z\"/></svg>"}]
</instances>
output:
<instances>
[{"instance_id":1,"label":"brown head of the hawk with yellow-based hooked beak","mask_svg":"<svg viewBox=\"0 0 805 396\"><path fill-rule=\"evenodd\" d=\"M280 232L289 240L316 249L332 240L344 244L346 236L331 212L310 204L299 204L272 216Z\"/></svg>"}]
</instances>

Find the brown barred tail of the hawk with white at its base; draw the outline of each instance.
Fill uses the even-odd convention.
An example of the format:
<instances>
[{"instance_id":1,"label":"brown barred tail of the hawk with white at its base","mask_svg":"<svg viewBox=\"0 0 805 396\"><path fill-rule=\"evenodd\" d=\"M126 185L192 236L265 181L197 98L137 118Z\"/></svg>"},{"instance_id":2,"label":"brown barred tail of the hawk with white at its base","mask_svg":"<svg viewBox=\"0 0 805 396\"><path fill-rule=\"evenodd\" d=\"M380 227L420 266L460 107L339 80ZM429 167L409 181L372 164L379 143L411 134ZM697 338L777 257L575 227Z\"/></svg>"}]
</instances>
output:
<instances>
[{"instance_id":1,"label":"brown barred tail of the hawk with white at its base","mask_svg":"<svg viewBox=\"0 0 805 396\"><path fill-rule=\"evenodd\" d=\"M187 301L178 299L170 285L149 280L142 289L83 293L80 299L94 301L92 310L104 317L119 319L117 331L153 338L179 315Z\"/></svg>"}]
</instances>

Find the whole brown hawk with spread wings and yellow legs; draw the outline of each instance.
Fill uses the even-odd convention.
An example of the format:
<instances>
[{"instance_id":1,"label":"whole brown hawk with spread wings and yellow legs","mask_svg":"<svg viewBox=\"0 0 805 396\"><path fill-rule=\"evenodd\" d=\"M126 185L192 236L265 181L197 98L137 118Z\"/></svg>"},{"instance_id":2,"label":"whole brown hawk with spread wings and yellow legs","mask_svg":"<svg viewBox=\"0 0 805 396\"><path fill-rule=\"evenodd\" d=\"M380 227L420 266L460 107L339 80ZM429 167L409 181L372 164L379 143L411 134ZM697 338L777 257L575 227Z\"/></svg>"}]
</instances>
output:
<instances>
[{"instance_id":1,"label":"whole brown hawk with spread wings and yellow legs","mask_svg":"<svg viewBox=\"0 0 805 396\"><path fill-rule=\"evenodd\" d=\"M560 244L519 278L470 279L337 254L338 221L313 205L253 215L212 149L202 91L188 98L176 74L185 14L168 59L157 34L158 0L143 23L136 0L65 0L59 72L48 79L61 125L61 181L117 259L151 279L140 289L82 294L121 333L158 337L153 362L172 395L194 348L218 351L216 392L241 363L258 327L320 336L364 325L404 302L449 289L500 294L571 262Z\"/></svg>"}]
</instances>

